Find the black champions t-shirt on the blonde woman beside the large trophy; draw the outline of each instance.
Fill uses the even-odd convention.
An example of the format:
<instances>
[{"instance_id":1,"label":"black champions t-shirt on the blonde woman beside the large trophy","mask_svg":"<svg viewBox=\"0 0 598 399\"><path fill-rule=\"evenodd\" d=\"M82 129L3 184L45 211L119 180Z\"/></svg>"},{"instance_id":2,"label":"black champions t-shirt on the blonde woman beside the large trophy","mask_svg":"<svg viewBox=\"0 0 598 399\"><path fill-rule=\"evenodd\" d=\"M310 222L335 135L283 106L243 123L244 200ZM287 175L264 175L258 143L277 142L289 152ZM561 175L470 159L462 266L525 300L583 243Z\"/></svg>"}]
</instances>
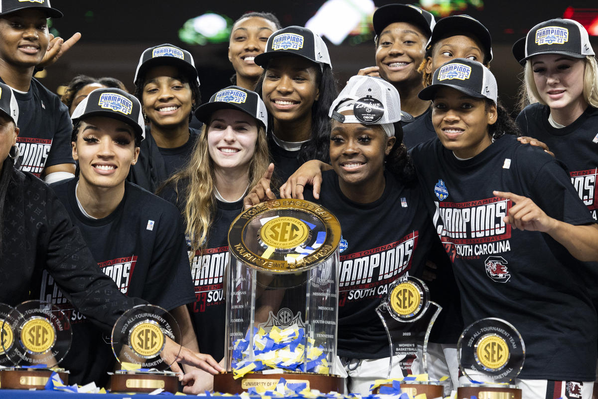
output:
<instances>
[{"instance_id":1,"label":"black champions t-shirt on the blonde woman beside the large trophy","mask_svg":"<svg viewBox=\"0 0 598 399\"><path fill-rule=\"evenodd\" d=\"M181 187L182 185L179 185ZM179 193L184 191L179 188ZM181 214L185 204L176 198L172 187L161 194L175 203ZM195 301L189 311L195 327L200 352L212 355L216 361L224 357L226 298L222 291L228 265L228 229L234 218L243 211L243 200L221 202L216 200L216 213L203 252L196 251L191 258L191 276L195 287ZM190 248L187 248L190 250ZM191 252L189 253L191 256Z\"/></svg>"}]
</instances>

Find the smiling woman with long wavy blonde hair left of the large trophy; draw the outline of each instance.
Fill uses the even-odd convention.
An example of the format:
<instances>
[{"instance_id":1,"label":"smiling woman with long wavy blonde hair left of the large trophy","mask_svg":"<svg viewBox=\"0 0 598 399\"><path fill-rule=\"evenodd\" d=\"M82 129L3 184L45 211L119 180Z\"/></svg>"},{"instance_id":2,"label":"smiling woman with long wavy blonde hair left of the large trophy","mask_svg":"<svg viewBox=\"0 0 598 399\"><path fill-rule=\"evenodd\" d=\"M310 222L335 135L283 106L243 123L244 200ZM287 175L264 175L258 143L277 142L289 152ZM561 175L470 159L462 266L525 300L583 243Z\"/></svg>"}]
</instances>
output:
<instances>
[{"instance_id":1,"label":"smiling woman with long wavy blonde hair left of the large trophy","mask_svg":"<svg viewBox=\"0 0 598 399\"><path fill-rule=\"evenodd\" d=\"M191 306L202 351L224 357L228 228L243 209L242 199L266 172L267 112L255 92L239 86L219 90L195 113L204 123L190 163L160 191L183 216L197 301ZM185 376L193 393L211 389L206 373Z\"/></svg>"}]
</instances>

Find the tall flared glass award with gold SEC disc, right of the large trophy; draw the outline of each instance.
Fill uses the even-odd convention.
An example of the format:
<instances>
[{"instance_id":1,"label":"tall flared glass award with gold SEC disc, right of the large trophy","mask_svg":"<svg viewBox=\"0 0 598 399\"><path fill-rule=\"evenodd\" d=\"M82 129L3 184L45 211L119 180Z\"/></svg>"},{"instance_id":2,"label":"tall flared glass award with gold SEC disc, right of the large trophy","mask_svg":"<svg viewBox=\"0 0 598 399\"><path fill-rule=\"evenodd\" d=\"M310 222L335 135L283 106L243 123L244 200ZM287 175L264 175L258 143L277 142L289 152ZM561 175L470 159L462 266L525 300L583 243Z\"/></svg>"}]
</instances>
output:
<instances>
[{"instance_id":1,"label":"tall flared glass award with gold SEC disc, right of the large trophy","mask_svg":"<svg viewBox=\"0 0 598 399\"><path fill-rule=\"evenodd\" d=\"M376 308L390 343L389 379L393 376L392 357L396 355L404 356L398 364L402 375L418 371L428 373L428 338L432 325L442 310L429 297L428 287L422 280L407 276L389 287L386 299ZM413 370L416 359L419 359L418 366L421 366L417 371ZM405 381L401 382L401 390L412 397L419 394L426 394L428 398L444 396L444 387L438 381Z\"/></svg>"}]
</instances>

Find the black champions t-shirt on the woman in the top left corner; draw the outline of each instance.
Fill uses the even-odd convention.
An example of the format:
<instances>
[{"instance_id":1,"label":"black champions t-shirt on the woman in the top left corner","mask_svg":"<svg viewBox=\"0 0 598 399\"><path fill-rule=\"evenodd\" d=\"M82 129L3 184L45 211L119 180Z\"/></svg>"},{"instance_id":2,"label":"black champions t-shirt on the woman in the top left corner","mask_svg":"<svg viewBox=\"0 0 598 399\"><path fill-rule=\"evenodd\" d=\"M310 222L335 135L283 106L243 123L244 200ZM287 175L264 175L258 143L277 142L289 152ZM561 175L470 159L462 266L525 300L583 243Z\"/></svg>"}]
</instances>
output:
<instances>
[{"instance_id":1,"label":"black champions t-shirt on the woman in the top left corner","mask_svg":"<svg viewBox=\"0 0 598 399\"><path fill-rule=\"evenodd\" d=\"M27 93L13 92L19 104L20 170L39 177L45 166L75 163L71 117L60 98L35 78L31 79Z\"/></svg>"}]
</instances>

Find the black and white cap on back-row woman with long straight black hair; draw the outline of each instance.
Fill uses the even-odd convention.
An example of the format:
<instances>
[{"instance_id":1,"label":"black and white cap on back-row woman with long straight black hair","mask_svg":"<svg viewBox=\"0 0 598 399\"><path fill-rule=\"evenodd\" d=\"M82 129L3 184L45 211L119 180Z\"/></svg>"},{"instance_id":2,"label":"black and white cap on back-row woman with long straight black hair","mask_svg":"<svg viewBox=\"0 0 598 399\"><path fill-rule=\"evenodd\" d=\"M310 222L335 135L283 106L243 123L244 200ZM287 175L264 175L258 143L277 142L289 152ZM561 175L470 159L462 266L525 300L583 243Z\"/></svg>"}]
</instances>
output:
<instances>
[{"instance_id":1,"label":"black and white cap on back-row woman with long straight black hair","mask_svg":"<svg viewBox=\"0 0 598 399\"><path fill-rule=\"evenodd\" d=\"M288 26L272 33L266 43L266 51L256 56L254 62L265 69L270 59L289 54L332 68L324 40L301 26Z\"/></svg>"}]
</instances>

